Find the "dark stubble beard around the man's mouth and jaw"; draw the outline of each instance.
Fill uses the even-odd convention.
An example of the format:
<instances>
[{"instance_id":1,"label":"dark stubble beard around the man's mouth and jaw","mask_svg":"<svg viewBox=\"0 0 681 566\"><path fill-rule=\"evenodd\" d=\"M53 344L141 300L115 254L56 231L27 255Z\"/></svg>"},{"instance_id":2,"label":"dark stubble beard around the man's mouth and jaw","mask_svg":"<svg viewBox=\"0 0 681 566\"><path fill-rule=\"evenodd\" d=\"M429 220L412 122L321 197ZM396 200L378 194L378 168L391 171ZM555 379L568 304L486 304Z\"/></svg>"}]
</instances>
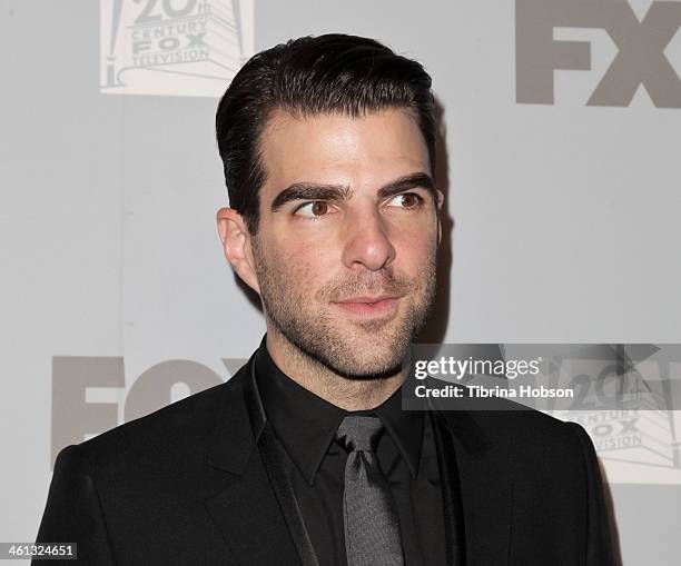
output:
<instances>
[{"instance_id":1,"label":"dark stubble beard around the man's mouth and jaw","mask_svg":"<svg viewBox=\"0 0 681 566\"><path fill-rule=\"evenodd\" d=\"M352 278L330 280L309 292L288 277L282 261L266 259L254 242L260 299L274 327L300 352L334 374L353 380L382 379L402 369L412 341L430 317L436 291L436 248L416 277L392 268L364 271ZM299 274L298 274L299 275ZM302 279L304 280L304 278ZM404 295L406 312L343 324L343 315L329 301L361 295ZM313 300L314 299L314 300ZM318 310L310 306L322 305Z\"/></svg>"}]
</instances>

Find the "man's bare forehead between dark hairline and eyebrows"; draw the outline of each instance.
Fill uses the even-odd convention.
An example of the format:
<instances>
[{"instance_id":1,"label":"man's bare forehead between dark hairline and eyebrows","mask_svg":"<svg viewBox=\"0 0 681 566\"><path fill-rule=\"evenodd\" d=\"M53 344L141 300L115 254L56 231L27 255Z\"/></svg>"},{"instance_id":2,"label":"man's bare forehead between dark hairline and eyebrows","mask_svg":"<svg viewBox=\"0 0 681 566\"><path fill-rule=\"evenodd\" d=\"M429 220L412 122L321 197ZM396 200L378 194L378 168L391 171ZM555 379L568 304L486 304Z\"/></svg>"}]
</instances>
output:
<instances>
[{"instance_id":1,"label":"man's bare forehead between dark hairline and eyebrows","mask_svg":"<svg viewBox=\"0 0 681 566\"><path fill-rule=\"evenodd\" d=\"M294 117L277 109L260 136L264 193L293 182L359 188L430 171L425 141L412 112L387 109L362 117Z\"/></svg>"}]
</instances>

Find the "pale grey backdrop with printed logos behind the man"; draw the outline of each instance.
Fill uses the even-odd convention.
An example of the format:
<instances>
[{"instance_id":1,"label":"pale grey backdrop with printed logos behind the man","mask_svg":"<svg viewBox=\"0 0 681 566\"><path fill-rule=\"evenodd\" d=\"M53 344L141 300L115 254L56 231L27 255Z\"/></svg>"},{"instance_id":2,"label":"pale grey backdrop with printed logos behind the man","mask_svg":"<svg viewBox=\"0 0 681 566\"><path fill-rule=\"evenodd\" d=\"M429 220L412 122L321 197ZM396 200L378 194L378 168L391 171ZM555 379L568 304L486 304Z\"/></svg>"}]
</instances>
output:
<instances>
[{"instance_id":1,"label":"pale grey backdrop with printed logos behind the man","mask_svg":"<svg viewBox=\"0 0 681 566\"><path fill-rule=\"evenodd\" d=\"M451 244L426 338L681 341L679 24L651 0L2 0L0 540L34 537L56 449L258 345L214 117L290 37L374 37L434 78ZM678 564L679 470L611 456L623 564Z\"/></svg>"}]
</instances>

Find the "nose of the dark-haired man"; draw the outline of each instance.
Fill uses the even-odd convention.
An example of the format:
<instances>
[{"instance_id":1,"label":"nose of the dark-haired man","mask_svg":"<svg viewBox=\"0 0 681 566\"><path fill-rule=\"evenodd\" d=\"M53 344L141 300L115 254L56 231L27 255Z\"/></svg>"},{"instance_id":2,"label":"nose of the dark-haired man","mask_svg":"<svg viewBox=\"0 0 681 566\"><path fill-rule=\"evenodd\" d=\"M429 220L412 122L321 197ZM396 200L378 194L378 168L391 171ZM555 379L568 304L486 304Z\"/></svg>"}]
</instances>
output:
<instances>
[{"instance_id":1,"label":"nose of the dark-haired man","mask_svg":"<svg viewBox=\"0 0 681 566\"><path fill-rule=\"evenodd\" d=\"M388 235L388 227L381 214L372 209L348 219L343 262L349 269L364 266L378 270L395 259L395 248Z\"/></svg>"}]
</instances>

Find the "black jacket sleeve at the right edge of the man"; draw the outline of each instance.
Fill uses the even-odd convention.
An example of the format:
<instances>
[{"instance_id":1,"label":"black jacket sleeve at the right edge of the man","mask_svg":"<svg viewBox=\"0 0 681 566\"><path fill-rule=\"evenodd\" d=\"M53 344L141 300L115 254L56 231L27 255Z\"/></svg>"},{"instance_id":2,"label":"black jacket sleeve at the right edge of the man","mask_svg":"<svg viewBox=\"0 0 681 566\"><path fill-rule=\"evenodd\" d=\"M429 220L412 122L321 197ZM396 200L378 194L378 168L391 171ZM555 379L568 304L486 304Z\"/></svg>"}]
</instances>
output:
<instances>
[{"instance_id":1,"label":"black jacket sleeve at the right edge of the man","mask_svg":"<svg viewBox=\"0 0 681 566\"><path fill-rule=\"evenodd\" d=\"M580 439L588 489L586 566L614 566L614 547L603 489L603 479L593 443L584 428L569 423Z\"/></svg>"}]
</instances>

